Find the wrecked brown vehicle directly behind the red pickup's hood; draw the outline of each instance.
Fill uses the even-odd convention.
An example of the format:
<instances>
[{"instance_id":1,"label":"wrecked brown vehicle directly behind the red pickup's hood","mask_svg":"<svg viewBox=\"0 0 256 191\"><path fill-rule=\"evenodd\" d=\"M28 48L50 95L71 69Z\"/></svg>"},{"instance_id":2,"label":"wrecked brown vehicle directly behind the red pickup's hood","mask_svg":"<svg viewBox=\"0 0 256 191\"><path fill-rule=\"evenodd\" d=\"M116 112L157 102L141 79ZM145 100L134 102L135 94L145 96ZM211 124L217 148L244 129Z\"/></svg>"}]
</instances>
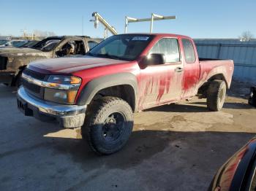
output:
<instances>
[{"instance_id":1,"label":"wrecked brown vehicle directly behind the red pickup's hood","mask_svg":"<svg viewBox=\"0 0 256 191\"><path fill-rule=\"evenodd\" d=\"M31 61L84 55L90 47L101 41L102 39L91 39L89 36L52 36L31 48L0 50L0 83L20 85L21 72Z\"/></svg>"}]
</instances>

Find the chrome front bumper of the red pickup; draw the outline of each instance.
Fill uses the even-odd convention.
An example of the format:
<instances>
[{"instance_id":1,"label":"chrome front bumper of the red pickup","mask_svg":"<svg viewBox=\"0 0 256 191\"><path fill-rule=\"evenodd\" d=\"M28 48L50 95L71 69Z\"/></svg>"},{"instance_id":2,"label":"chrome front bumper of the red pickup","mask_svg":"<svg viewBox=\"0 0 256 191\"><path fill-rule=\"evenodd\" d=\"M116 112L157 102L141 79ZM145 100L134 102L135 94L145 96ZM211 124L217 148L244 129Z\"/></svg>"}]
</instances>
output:
<instances>
[{"instance_id":1,"label":"chrome front bumper of the red pickup","mask_svg":"<svg viewBox=\"0 0 256 191\"><path fill-rule=\"evenodd\" d=\"M26 116L36 117L38 120L58 120L64 128L78 128L83 125L86 106L55 104L43 101L26 93L23 87L18 89L18 109Z\"/></svg>"}]
</instances>

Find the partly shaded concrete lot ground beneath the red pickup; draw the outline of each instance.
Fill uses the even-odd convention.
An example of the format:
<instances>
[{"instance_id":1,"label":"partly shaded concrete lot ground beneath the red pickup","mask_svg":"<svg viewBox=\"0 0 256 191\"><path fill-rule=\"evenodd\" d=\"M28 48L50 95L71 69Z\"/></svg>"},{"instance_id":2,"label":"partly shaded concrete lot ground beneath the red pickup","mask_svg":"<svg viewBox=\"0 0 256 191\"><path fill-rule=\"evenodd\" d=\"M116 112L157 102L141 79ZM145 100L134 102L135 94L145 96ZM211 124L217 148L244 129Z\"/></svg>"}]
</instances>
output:
<instances>
[{"instance_id":1,"label":"partly shaded concrete lot ground beneath the red pickup","mask_svg":"<svg viewBox=\"0 0 256 191\"><path fill-rule=\"evenodd\" d=\"M247 90L235 84L222 112L195 98L135 114L127 146L99 157L79 130L24 117L15 91L0 85L0 190L206 190L219 166L255 136Z\"/></svg>"}]
</instances>

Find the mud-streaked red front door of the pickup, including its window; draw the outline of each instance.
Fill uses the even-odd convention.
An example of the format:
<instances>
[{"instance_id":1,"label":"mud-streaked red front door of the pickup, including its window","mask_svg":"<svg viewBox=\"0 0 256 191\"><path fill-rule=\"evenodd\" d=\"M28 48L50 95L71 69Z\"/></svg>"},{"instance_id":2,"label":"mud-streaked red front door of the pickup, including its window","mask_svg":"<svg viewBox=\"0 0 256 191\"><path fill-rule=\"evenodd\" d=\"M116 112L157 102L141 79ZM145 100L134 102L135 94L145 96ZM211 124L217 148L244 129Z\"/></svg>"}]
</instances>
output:
<instances>
[{"instance_id":1,"label":"mud-streaked red front door of the pickup, including its window","mask_svg":"<svg viewBox=\"0 0 256 191\"><path fill-rule=\"evenodd\" d=\"M147 66L140 70L140 108L145 109L181 97L183 64L176 38L162 38L154 44L148 55L165 55L165 64Z\"/></svg>"}]
</instances>

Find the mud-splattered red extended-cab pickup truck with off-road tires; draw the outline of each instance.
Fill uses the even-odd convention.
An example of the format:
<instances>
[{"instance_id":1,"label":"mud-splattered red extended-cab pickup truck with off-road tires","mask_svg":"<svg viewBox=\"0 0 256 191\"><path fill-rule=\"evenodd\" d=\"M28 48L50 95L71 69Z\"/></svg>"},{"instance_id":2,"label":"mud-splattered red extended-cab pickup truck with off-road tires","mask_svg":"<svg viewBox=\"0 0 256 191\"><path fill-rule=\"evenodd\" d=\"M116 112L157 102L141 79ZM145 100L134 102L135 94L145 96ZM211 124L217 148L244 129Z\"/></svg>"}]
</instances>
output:
<instances>
[{"instance_id":1,"label":"mud-splattered red extended-cab pickup truck with off-road tires","mask_svg":"<svg viewBox=\"0 0 256 191\"><path fill-rule=\"evenodd\" d=\"M133 113L198 95L219 111L233 61L198 58L176 34L110 36L85 56L34 61L23 71L18 108L39 120L82 129L95 152L108 155L129 139Z\"/></svg>"}]
</instances>

